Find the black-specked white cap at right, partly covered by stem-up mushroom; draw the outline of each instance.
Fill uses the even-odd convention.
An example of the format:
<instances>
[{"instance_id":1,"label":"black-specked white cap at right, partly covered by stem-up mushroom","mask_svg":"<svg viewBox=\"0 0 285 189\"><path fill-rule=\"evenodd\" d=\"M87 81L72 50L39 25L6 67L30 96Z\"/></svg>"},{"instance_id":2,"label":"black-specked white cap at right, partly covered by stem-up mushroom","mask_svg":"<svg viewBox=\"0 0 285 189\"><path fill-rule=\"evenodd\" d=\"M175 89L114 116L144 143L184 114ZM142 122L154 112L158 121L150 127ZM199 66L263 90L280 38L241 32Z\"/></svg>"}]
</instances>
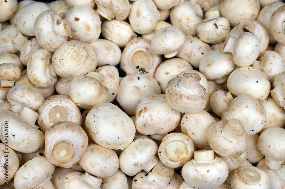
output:
<instances>
[{"instance_id":1,"label":"black-specked white cap at right, partly covered by stem-up mushroom","mask_svg":"<svg viewBox=\"0 0 285 189\"><path fill-rule=\"evenodd\" d=\"M237 119L243 125L247 136L258 133L266 121L266 111L255 98L243 94L234 98L222 113L222 120Z\"/></svg>"}]
</instances>

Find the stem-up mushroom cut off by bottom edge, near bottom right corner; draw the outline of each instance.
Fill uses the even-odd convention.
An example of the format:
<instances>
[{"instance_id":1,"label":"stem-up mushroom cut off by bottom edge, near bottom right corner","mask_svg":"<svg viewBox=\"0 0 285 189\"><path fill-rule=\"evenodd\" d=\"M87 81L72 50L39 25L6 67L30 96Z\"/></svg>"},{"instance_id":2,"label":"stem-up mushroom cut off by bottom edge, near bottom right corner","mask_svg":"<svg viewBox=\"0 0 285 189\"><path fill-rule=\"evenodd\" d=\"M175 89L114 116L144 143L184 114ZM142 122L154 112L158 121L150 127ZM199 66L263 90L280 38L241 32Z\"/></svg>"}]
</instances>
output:
<instances>
[{"instance_id":1,"label":"stem-up mushroom cut off by bottom edge, near bottom right corner","mask_svg":"<svg viewBox=\"0 0 285 189\"><path fill-rule=\"evenodd\" d=\"M271 181L268 174L254 166L244 166L233 174L231 179L232 188L255 188L269 189Z\"/></svg>"}]
</instances>

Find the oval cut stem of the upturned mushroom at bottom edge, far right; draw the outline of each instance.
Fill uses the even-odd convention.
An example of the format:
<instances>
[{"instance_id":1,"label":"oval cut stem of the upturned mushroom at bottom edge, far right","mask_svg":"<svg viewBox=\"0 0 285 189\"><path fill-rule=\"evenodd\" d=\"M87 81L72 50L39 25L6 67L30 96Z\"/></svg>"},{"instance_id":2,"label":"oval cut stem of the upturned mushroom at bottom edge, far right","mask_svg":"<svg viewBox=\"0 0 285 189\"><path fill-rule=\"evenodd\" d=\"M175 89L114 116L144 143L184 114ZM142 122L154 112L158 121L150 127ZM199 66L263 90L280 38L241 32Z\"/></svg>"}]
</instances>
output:
<instances>
[{"instance_id":1,"label":"oval cut stem of the upturned mushroom at bottom edge, far right","mask_svg":"<svg viewBox=\"0 0 285 189\"><path fill-rule=\"evenodd\" d=\"M250 168L244 169L239 174L239 177L245 184L252 186L258 186L261 182L260 174L256 170Z\"/></svg>"}]
</instances>

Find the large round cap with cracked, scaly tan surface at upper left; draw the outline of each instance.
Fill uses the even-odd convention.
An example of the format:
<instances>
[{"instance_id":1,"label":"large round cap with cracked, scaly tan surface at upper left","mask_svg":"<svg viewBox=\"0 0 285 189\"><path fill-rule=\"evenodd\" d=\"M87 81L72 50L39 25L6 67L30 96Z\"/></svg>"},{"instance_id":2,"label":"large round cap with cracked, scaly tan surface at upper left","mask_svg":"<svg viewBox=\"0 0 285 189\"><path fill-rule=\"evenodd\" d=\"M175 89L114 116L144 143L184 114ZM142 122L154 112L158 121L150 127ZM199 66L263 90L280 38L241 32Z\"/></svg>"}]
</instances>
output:
<instances>
[{"instance_id":1,"label":"large round cap with cracked, scaly tan surface at upper left","mask_svg":"<svg viewBox=\"0 0 285 189\"><path fill-rule=\"evenodd\" d=\"M67 41L52 56L54 71L68 81L76 76L95 71L97 54L93 47L82 41Z\"/></svg>"}]
</instances>

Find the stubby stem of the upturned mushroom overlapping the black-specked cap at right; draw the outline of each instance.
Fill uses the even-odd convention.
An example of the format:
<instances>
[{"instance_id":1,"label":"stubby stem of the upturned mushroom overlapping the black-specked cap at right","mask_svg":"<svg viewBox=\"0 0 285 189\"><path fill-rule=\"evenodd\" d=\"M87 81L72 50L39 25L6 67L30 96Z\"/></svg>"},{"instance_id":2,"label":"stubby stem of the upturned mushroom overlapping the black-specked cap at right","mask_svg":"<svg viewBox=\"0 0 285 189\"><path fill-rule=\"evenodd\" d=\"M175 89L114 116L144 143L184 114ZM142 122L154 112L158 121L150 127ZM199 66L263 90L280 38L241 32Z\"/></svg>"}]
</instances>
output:
<instances>
[{"instance_id":1,"label":"stubby stem of the upturned mushroom overlapping the black-specked cap at right","mask_svg":"<svg viewBox=\"0 0 285 189\"><path fill-rule=\"evenodd\" d=\"M236 141L242 139L241 136L245 133L245 129L241 122L236 119L230 119L222 128L222 132L225 134L227 139Z\"/></svg>"}]
</instances>

